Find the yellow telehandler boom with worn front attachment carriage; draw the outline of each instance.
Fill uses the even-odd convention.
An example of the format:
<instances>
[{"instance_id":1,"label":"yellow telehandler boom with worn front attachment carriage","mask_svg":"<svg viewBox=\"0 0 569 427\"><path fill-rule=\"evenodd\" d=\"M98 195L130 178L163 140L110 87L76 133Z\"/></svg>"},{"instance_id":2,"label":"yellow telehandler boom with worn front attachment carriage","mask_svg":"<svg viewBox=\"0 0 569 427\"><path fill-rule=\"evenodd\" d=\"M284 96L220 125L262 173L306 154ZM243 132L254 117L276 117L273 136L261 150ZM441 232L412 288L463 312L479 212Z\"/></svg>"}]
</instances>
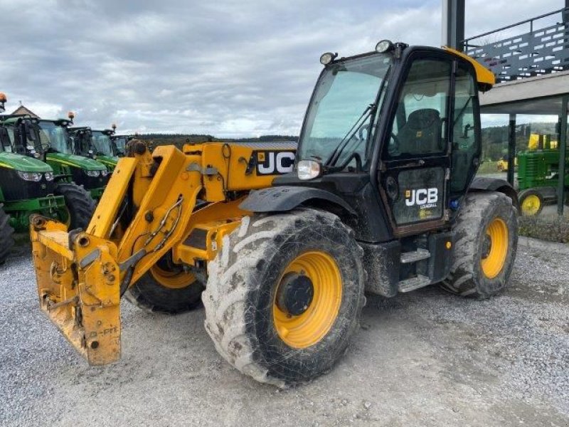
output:
<instances>
[{"instance_id":1,"label":"yellow telehandler boom with worn front attachment carriage","mask_svg":"<svg viewBox=\"0 0 569 427\"><path fill-rule=\"evenodd\" d=\"M201 287L196 276L248 214L238 207L248 190L291 172L295 149L208 142L150 154L135 140L133 157L119 160L85 232L68 233L41 216L31 220L42 310L90 364L119 359L119 302L129 285L150 272L147 280L170 290ZM138 214L119 233L129 209ZM161 259L185 270L161 268Z\"/></svg>"}]
</instances>

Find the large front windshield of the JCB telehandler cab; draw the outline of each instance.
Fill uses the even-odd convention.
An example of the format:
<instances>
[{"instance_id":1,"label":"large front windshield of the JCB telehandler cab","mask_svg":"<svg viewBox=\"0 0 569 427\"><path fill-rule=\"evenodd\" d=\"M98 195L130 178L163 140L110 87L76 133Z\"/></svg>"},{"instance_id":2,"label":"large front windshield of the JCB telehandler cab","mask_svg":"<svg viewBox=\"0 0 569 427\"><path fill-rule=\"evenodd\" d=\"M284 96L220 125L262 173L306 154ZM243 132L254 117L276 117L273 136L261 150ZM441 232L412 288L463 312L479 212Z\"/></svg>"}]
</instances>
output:
<instances>
[{"instance_id":1,"label":"large front windshield of the JCB telehandler cab","mask_svg":"<svg viewBox=\"0 0 569 427\"><path fill-rule=\"evenodd\" d=\"M299 159L317 159L328 166L357 159L366 167L392 58L376 53L326 67L304 121Z\"/></svg>"}]
</instances>

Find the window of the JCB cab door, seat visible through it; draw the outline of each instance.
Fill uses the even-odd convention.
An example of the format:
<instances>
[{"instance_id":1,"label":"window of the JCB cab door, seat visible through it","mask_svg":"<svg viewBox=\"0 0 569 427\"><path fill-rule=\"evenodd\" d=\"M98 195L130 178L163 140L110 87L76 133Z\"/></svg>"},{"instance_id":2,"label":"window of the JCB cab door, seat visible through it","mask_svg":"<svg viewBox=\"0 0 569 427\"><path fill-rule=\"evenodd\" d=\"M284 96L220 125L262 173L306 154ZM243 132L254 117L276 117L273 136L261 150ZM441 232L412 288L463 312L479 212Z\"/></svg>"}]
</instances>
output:
<instances>
[{"instance_id":1,"label":"window of the JCB cab door, seat visible through it","mask_svg":"<svg viewBox=\"0 0 569 427\"><path fill-rule=\"evenodd\" d=\"M415 60L399 95L387 154L420 157L445 152L452 64Z\"/></svg>"}]
</instances>

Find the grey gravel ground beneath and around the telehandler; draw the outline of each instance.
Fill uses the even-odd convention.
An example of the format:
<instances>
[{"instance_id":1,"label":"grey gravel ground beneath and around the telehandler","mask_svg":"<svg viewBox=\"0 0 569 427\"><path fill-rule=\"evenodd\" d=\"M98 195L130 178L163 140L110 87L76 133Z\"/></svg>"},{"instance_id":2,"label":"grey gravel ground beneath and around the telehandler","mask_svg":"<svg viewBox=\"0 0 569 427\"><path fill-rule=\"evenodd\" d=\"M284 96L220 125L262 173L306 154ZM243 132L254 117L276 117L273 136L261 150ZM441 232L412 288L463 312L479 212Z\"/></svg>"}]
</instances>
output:
<instances>
[{"instance_id":1,"label":"grey gravel ground beneath and around the telehandler","mask_svg":"<svg viewBox=\"0 0 569 427\"><path fill-rule=\"evenodd\" d=\"M228 366L203 309L123 302L122 359L88 367L39 311L31 258L16 255L0 267L0 425L569 426L569 252L558 248L519 248L491 300L434 286L369 297L346 357L288 390Z\"/></svg>"}]
</instances>

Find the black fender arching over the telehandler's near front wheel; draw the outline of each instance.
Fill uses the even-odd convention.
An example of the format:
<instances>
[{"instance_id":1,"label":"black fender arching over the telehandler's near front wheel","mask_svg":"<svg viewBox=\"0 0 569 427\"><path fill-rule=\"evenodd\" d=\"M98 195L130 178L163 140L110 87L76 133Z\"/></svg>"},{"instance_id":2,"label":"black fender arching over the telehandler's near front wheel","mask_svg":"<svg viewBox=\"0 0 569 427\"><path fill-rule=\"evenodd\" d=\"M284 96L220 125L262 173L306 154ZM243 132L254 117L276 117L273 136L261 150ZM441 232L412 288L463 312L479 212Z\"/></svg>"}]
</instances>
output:
<instances>
[{"instance_id":1,"label":"black fender arching over the telehandler's near front wheel","mask_svg":"<svg viewBox=\"0 0 569 427\"><path fill-rule=\"evenodd\" d=\"M312 206L332 206L334 210L346 211L356 215L356 211L341 197L330 191L305 186L277 186L270 189L254 190L241 202L240 209L252 212L286 212L301 204ZM324 203L323 203L324 202ZM324 209L326 209L324 207ZM334 212L335 213L335 212Z\"/></svg>"}]
</instances>

